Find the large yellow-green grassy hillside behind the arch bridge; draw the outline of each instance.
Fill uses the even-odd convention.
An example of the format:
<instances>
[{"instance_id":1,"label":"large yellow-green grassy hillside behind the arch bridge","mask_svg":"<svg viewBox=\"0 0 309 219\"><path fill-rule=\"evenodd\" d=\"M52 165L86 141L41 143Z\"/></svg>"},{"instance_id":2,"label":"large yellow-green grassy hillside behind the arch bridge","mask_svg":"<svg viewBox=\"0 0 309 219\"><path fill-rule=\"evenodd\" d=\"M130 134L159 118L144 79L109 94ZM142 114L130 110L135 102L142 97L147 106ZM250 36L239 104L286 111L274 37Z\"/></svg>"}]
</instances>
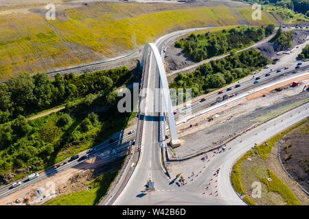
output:
<instances>
[{"instance_id":1,"label":"large yellow-green grassy hillside behind the arch bridge","mask_svg":"<svg viewBox=\"0 0 309 219\"><path fill-rule=\"evenodd\" d=\"M0 15L0 80L117 56L178 29L237 25L244 20L251 25L275 23L266 13L261 21L252 21L249 7L168 10L175 6L163 5L89 3L87 9L59 13L55 21L45 20L42 12Z\"/></svg>"}]
</instances>

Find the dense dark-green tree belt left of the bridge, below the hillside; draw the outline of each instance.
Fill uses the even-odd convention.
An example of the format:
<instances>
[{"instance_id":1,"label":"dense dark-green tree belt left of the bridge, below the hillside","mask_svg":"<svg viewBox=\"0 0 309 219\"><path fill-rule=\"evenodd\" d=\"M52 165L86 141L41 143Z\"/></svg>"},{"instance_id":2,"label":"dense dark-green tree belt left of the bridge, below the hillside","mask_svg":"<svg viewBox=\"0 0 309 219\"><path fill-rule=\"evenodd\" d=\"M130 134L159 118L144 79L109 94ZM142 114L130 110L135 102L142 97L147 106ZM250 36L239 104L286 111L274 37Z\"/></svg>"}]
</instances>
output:
<instances>
[{"instance_id":1,"label":"dense dark-green tree belt left of the bridge, below the hillside","mask_svg":"<svg viewBox=\"0 0 309 219\"><path fill-rule=\"evenodd\" d=\"M132 73L125 66L79 76L69 73L62 77L57 73L54 79L45 73L37 73L32 77L23 73L0 84L0 123L17 118L19 115L27 116L67 101L80 99L89 94L100 93L106 98L111 98L113 90L131 78Z\"/></svg>"}]
</instances>

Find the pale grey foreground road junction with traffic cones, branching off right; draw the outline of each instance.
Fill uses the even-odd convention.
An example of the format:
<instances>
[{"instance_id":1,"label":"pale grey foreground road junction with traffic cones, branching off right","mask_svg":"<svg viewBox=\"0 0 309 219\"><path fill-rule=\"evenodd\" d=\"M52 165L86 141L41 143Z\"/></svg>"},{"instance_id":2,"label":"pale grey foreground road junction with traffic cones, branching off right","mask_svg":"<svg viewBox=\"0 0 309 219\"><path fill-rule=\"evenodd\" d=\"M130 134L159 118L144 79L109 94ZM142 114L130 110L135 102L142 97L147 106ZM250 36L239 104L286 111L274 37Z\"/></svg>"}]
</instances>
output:
<instances>
[{"instance_id":1,"label":"pale grey foreground road junction with traffic cones, branching off right","mask_svg":"<svg viewBox=\"0 0 309 219\"><path fill-rule=\"evenodd\" d=\"M187 184L181 187L165 177L159 167L159 150L157 149L159 145L153 142L154 138L148 138L142 148L144 155L141 156L137 169L114 205L245 205L234 192L229 179L233 163L255 143L262 143L276 133L308 117L308 107L309 103L306 103L227 143L225 152L211 157L211 161L207 162L207 168L198 173L198 176L195 175L194 181L186 179ZM214 177L214 173L219 168L218 177ZM156 191L146 194L142 190L148 179L155 181Z\"/></svg>"}]
</instances>

